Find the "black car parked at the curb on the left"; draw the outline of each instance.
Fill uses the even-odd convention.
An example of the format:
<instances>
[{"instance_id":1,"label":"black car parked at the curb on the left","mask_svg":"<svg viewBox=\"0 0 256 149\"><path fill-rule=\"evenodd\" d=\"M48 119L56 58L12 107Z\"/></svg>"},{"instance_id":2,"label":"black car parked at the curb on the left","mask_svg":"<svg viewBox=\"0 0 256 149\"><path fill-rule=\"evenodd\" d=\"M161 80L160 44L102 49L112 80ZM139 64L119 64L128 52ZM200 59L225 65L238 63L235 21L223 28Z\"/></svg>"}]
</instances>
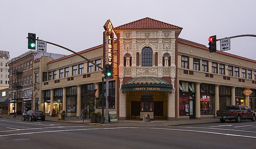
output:
<instances>
[{"instance_id":1,"label":"black car parked at the curb on the left","mask_svg":"<svg viewBox=\"0 0 256 149\"><path fill-rule=\"evenodd\" d=\"M28 119L29 121L36 121L36 120L42 120L45 121L45 113L43 111L33 111L29 110L27 113L25 113L22 116L22 121L25 121Z\"/></svg>"}]
</instances>

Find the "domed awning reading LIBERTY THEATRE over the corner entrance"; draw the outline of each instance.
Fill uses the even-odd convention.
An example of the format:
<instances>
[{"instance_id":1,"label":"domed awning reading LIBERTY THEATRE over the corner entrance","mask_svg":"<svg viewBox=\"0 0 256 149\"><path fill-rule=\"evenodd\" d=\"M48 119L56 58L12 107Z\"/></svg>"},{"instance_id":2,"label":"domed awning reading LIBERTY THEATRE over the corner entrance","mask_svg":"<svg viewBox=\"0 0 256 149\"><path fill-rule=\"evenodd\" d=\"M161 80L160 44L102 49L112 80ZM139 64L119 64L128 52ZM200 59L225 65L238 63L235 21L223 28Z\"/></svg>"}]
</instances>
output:
<instances>
[{"instance_id":1,"label":"domed awning reading LIBERTY THEATRE over the corner entrance","mask_svg":"<svg viewBox=\"0 0 256 149\"><path fill-rule=\"evenodd\" d=\"M167 81L156 77L137 77L132 78L125 84L122 84L123 92L131 91L160 91L160 92L172 92L172 84Z\"/></svg>"}]
</instances>

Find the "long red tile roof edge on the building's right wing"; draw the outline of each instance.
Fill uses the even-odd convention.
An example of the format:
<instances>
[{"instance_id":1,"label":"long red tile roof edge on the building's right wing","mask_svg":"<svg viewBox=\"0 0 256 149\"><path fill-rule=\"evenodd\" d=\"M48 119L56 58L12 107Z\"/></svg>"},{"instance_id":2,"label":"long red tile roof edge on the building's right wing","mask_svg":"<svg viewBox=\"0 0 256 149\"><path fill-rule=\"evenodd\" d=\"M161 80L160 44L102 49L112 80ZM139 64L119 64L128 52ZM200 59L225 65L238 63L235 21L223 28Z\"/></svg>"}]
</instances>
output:
<instances>
[{"instance_id":1,"label":"long red tile roof edge on the building's right wing","mask_svg":"<svg viewBox=\"0 0 256 149\"><path fill-rule=\"evenodd\" d=\"M193 47L196 47L196 48L200 48L200 49L204 49L204 50L209 51L207 46L199 44L199 43L194 43L194 42L189 41L189 40L178 38L178 43L185 44L185 45L188 45L188 46L193 46ZM248 61L248 62L256 63L256 61L253 60L253 59L248 59L248 58L245 58L245 57L242 57L242 56L238 56L238 55L222 52L222 51L219 51L219 50L217 50L216 53L219 53L219 54L222 54L222 55L226 55L226 56L231 56L231 57L234 57L234 58L237 58L237 59L242 59L242 60L245 60L245 61Z\"/></svg>"}]
</instances>

